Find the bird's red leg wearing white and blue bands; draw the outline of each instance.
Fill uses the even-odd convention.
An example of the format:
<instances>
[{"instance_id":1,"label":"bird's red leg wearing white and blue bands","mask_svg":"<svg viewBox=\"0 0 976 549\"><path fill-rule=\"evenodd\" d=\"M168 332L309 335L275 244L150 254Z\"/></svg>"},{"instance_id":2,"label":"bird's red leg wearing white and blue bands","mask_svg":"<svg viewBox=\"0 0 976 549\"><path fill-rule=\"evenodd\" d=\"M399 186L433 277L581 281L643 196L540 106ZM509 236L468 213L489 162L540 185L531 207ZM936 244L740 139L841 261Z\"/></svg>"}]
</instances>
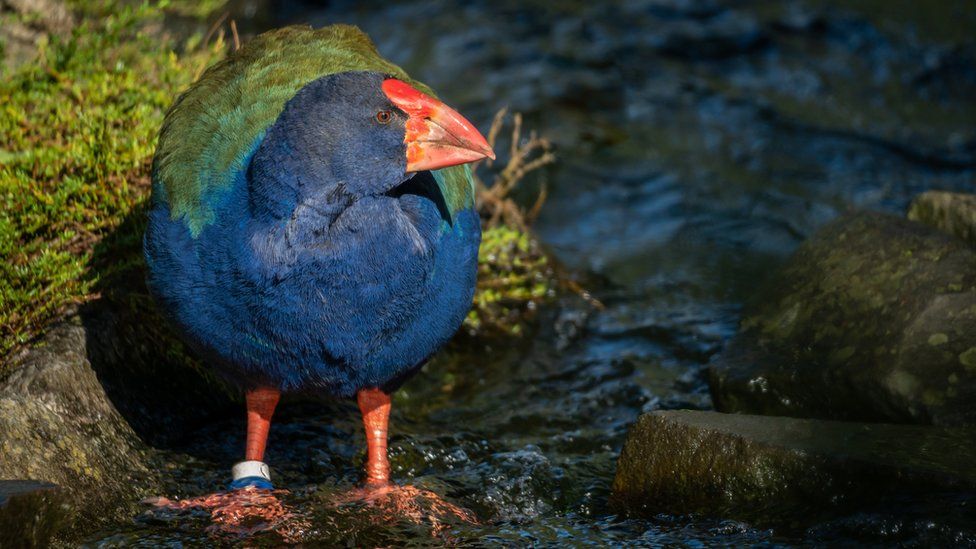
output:
<instances>
[{"instance_id":1,"label":"bird's red leg wearing white and blue bands","mask_svg":"<svg viewBox=\"0 0 976 549\"><path fill-rule=\"evenodd\" d=\"M232 469L234 481L230 488L237 490L246 486L270 490L271 472L264 463L264 448L268 441L268 431L271 429L271 416L281 392L270 387L258 387L248 391L247 401L247 445L244 450L244 461L234 465Z\"/></svg>"}]
</instances>

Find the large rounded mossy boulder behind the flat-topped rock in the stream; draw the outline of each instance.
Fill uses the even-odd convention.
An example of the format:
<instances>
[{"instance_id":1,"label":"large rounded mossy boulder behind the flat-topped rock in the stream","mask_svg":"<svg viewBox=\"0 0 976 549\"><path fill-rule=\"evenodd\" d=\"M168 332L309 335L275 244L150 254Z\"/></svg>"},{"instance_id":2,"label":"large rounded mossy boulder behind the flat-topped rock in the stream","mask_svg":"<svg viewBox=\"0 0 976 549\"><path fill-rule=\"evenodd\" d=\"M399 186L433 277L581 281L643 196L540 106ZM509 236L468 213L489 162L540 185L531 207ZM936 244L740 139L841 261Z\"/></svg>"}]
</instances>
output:
<instances>
[{"instance_id":1,"label":"large rounded mossy boulder behind the flat-topped rock in the stream","mask_svg":"<svg viewBox=\"0 0 976 549\"><path fill-rule=\"evenodd\" d=\"M856 214L801 246L709 366L724 412L976 421L976 252L897 217Z\"/></svg>"}]
</instances>

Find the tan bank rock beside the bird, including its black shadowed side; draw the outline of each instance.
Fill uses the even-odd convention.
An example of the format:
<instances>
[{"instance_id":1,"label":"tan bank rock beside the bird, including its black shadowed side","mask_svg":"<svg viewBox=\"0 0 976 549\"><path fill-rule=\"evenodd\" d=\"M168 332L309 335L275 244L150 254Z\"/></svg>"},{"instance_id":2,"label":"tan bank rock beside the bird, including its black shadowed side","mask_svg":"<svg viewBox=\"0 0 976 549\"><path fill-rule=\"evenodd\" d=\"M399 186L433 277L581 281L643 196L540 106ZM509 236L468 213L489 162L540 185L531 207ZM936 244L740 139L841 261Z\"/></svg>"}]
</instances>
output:
<instances>
[{"instance_id":1,"label":"tan bank rock beside the bird, including its black shadowed side","mask_svg":"<svg viewBox=\"0 0 976 549\"><path fill-rule=\"evenodd\" d=\"M62 486L71 531L129 520L167 480L159 449L233 404L166 348L157 323L121 301L96 303L49 330L0 381L0 478Z\"/></svg>"}]
</instances>

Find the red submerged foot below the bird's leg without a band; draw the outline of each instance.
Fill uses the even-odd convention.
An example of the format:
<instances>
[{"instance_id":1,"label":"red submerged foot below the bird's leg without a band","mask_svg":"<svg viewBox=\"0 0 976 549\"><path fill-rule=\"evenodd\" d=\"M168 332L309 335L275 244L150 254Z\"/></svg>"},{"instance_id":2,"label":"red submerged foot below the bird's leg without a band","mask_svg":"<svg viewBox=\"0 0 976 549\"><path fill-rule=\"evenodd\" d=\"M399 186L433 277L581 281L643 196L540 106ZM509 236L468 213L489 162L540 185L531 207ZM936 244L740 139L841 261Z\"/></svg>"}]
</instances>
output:
<instances>
[{"instance_id":1,"label":"red submerged foot below the bird's leg without a band","mask_svg":"<svg viewBox=\"0 0 976 549\"><path fill-rule=\"evenodd\" d=\"M354 488L334 499L336 505L365 504L379 511L383 522L408 520L416 524L430 524L433 534L438 535L448 527L446 521L461 520L477 524L471 511L445 501L430 490L393 483L366 484Z\"/></svg>"}]
</instances>

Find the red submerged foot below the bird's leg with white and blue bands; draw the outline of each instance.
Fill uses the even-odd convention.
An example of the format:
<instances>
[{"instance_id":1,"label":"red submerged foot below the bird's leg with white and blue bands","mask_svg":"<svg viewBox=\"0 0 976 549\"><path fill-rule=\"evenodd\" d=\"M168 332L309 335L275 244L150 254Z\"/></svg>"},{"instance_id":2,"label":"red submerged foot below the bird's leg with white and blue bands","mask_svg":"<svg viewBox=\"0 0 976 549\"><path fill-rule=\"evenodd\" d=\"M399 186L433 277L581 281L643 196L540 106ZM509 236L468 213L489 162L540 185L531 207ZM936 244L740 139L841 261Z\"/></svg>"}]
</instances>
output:
<instances>
[{"instance_id":1,"label":"red submerged foot below the bird's leg with white and blue bands","mask_svg":"<svg viewBox=\"0 0 976 549\"><path fill-rule=\"evenodd\" d=\"M261 532L275 532L282 540L291 543L300 541L310 525L278 499L278 496L287 493L287 490L246 486L184 500L149 498L144 503L163 513L196 509L209 511L211 525L207 527L207 532L213 535L247 537Z\"/></svg>"}]
</instances>

